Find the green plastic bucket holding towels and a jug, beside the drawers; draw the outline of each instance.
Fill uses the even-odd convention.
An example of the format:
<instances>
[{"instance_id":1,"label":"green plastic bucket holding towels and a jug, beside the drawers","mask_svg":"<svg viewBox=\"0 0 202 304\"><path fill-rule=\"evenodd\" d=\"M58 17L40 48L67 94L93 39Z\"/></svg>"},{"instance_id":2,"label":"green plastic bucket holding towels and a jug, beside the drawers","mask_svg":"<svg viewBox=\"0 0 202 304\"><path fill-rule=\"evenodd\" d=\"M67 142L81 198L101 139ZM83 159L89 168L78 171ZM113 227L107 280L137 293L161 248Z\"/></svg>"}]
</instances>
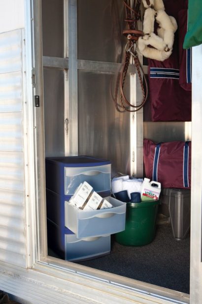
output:
<instances>
[{"instance_id":1,"label":"green plastic bucket holding towels and a jug, beside the drawers","mask_svg":"<svg viewBox=\"0 0 202 304\"><path fill-rule=\"evenodd\" d=\"M126 229L116 233L116 241L126 246L143 246L151 243L156 232L158 207L159 200L127 203Z\"/></svg>"}]
</instances>

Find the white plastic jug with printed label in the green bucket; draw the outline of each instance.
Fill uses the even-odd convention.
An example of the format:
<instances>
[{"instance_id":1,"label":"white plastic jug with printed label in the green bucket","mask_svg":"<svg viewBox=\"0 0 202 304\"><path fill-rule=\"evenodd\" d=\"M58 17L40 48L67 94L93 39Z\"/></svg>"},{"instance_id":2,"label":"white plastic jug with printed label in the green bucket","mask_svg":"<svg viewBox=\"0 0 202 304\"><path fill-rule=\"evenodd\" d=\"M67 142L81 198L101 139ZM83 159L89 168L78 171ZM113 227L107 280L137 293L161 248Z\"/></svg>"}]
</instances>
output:
<instances>
[{"instance_id":1,"label":"white plastic jug with printed label in the green bucket","mask_svg":"<svg viewBox=\"0 0 202 304\"><path fill-rule=\"evenodd\" d=\"M161 183L158 181L150 181L149 178L144 178L141 187L141 201L158 200L161 193Z\"/></svg>"}]
</instances>

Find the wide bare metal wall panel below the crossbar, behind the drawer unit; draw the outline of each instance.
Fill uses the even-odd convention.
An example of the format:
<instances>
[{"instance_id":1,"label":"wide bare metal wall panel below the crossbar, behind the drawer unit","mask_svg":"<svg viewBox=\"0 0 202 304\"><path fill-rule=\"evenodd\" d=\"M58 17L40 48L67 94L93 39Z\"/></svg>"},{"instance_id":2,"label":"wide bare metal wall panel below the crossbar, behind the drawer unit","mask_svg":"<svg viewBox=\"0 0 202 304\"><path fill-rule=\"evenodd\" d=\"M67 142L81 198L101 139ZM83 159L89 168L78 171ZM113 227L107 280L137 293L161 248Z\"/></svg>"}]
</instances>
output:
<instances>
[{"instance_id":1,"label":"wide bare metal wall panel below the crossbar, behind the drawer unit","mask_svg":"<svg viewBox=\"0 0 202 304\"><path fill-rule=\"evenodd\" d=\"M116 75L78 72L79 155L111 160L112 176L130 172L130 113L116 111Z\"/></svg>"}]
</instances>

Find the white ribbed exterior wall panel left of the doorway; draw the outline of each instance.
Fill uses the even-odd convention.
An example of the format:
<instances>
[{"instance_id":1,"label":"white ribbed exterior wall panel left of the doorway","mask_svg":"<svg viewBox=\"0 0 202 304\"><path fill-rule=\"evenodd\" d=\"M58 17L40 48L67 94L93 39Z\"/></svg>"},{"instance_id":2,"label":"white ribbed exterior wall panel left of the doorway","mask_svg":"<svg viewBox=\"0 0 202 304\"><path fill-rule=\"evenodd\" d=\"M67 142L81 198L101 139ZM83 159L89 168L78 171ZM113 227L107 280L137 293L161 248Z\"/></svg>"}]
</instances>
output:
<instances>
[{"instance_id":1,"label":"white ribbed exterior wall panel left of the doorway","mask_svg":"<svg viewBox=\"0 0 202 304\"><path fill-rule=\"evenodd\" d=\"M23 45L0 34L0 261L26 267Z\"/></svg>"}]
</instances>

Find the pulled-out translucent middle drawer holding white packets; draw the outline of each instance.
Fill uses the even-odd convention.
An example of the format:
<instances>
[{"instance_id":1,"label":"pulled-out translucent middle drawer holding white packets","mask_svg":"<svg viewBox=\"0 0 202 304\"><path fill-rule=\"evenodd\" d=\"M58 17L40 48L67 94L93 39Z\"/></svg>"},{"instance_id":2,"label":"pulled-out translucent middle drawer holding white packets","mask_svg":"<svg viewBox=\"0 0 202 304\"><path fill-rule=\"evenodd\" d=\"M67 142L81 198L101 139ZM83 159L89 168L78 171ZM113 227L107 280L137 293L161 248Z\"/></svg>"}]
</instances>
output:
<instances>
[{"instance_id":1,"label":"pulled-out translucent middle drawer holding white packets","mask_svg":"<svg viewBox=\"0 0 202 304\"><path fill-rule=\"evenodd\" d=\"M101 236L125 230L126 203L111 196L106 200L113 208L85 211L65 202L65 225L77 238Z\"/></svg>"}]
</instances>

